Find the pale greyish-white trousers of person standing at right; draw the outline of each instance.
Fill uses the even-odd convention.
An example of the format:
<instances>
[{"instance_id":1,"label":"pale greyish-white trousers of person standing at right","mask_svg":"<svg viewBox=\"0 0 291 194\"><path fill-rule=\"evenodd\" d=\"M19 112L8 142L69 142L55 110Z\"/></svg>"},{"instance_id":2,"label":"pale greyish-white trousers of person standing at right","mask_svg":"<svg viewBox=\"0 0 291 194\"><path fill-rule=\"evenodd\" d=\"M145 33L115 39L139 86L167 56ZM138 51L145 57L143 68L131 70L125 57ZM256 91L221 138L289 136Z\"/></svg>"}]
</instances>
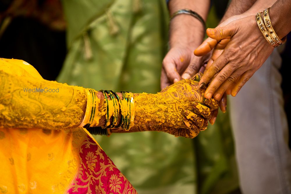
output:
<instances>
[{"instance_id":1,"label":"pale greyish-white trousers of person standing at right","mask_svg":"<svg viewBox=\"0 0 291 194\"><path fill-rule=\"evenodd\" d=\"M245 194L291 194L291 152L280 66L275 49L237 96L229 98L240 186Z\"/></svg>"}]
</instances>

